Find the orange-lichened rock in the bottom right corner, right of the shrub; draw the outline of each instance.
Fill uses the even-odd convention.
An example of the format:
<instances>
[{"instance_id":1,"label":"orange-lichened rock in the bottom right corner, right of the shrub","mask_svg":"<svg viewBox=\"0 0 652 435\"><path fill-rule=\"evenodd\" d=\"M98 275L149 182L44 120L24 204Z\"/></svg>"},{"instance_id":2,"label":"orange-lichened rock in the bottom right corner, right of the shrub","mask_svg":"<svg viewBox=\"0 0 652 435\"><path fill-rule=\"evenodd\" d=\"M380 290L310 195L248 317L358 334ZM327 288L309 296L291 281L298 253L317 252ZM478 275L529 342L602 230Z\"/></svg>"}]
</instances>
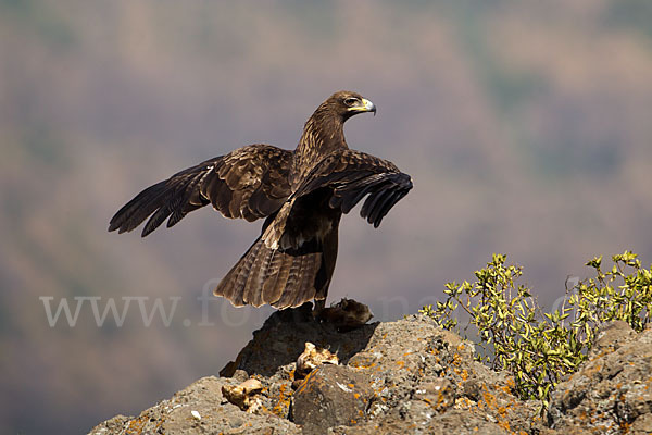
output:
<instances>
[{"instance_id":1,"label":"orange-lichened rock in the bottom right corner, right of the shrub","mask_svg":"<svg viewBox=\"0 0 652 435\"><path fill-rule=\"evenodd\" d=\"M652 434L652 328L601 328L589 361L552 394L549 423L560 432Z\"/></svg>"}]
</instances>

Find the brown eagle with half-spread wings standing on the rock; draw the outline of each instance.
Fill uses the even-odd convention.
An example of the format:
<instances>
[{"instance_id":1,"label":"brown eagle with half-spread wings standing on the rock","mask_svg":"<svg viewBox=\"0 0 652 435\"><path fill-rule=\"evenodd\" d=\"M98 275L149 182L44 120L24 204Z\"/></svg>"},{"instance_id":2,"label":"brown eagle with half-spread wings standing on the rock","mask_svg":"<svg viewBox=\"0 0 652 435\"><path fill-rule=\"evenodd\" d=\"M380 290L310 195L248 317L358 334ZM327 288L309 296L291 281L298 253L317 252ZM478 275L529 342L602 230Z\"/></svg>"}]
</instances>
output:
<instances>
[{"instance_id":1,"label":"brown eagle with half-spread wings standing on the rock","mask_svg":"<svg viewBox=\"0 0 652 435\"><path fill-rule=\"evenodd\" d=\"M109 231L130 232L149 217L145 237L208 204L226 217L264 219L261 235L214 294L236 307L286 309L314 300L315 310L324 308L342 213L366 197L360 215L378 227L412 188L393 163L348 147L344 122L365 112L375 115L372 101L335 92L305 122L293 151L249 145L180 171L127 202Z\"/></svg>"}]
</instances>

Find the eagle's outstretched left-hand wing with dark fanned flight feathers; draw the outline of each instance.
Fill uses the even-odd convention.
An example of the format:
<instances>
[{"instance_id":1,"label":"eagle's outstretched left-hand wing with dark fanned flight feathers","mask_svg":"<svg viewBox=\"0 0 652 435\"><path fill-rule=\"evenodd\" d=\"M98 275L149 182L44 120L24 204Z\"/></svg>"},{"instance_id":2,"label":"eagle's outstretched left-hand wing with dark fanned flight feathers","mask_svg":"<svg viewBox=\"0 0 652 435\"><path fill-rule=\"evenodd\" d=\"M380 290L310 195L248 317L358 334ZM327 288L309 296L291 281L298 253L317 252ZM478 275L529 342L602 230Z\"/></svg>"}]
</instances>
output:
<instances>
[{"instance_id":1,"label":"eagle's outstretched left-hand wing with dark fanned flight feathers","mask_svg":"<svg viewBox=\"0 0 652 435\"><path fill-rule=\"evenodd\" d=\"M226 217L249 222L268 216L290 196L292 152L271 145L250 145L206 160L156 183L127 202L109 231L129 232L151 215L142 237L167 219L167 227L212 203Z\"/></svg>"}]
</instances>

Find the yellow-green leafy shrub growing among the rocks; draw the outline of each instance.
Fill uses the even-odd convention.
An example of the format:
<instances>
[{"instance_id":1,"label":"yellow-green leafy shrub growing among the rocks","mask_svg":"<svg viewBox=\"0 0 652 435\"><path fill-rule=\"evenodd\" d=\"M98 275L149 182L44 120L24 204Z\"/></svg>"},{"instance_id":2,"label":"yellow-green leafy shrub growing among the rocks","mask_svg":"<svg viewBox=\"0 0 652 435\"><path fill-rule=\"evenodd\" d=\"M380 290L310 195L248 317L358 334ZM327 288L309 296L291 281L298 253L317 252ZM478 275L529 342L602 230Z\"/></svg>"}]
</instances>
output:
<instances>
[{"instance_id":1,"label":"yellow-green leafy shrub growing among the rocks","mask_svg":"<svg viewBox=\"0 0 652 435\"><path fill-rule=\"evenodd\" d=\"M650 323L652 270L641 268L635 253L613 257L609 272L602 257L590 260L595 277L566 290L561 310L544 313L530 289L515 282L523 274L517 265L505 265L506 256L493 254L487 268L475 272L475 283L449 283L446 301L419 312L441 327L460 332L455 312L461 308L479 337L478 360L514 376L522 399L541 400L548 408L556 384L577 371L595 339L597 326L622 320L640 332Z\"/></svg>"}]
</instances>

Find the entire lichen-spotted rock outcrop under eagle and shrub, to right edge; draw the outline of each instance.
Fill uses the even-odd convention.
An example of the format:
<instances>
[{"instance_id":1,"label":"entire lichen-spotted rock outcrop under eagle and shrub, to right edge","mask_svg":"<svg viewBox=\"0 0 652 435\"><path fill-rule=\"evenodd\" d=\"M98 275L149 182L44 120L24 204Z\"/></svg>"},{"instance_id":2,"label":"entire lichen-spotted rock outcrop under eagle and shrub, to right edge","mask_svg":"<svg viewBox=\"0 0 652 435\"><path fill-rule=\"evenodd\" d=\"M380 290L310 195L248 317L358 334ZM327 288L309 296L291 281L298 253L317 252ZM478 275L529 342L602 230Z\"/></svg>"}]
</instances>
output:
<instances>
[{"instance_id":1,"label":"entire lichen-spotted rock outcrop under eagle and shrub, to right edge","mask_svg":"<svg viewBox=\"0 0 652 435\"><path fill-rule=\"evenodd\" d=\"M298 374L305 343L336 353L339 364ZM607 325L543 418L537 401L515 397L509 374L473 355L472 343L423 315L342 333L304 306L275 312L221 377L90 434L652 433L650 328Z\"/></svg>"}]
</instances>

